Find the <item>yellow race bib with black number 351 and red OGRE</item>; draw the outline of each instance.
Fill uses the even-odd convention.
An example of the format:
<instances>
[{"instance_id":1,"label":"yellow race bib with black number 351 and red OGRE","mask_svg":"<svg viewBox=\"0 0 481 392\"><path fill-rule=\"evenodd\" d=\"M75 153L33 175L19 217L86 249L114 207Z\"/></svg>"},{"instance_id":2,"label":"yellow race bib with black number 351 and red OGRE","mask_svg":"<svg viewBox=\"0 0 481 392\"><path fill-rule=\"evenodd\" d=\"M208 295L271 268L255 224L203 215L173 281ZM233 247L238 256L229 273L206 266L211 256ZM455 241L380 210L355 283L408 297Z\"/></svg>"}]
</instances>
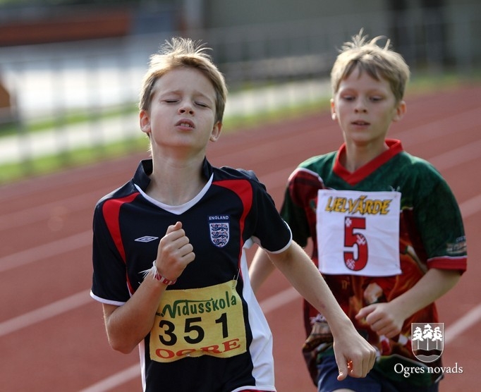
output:
<instances>
[{"instance_id":1,"label":"yellow race bib with black number 351 and red OGRE","mask_svg":"<svg viewBox=\"0 0 481 392\"><path fill-rule=\"evenodd\" d=\"M188 290L166 290L150 331L150 358L233 357L247 344L236 281Z\"/></svg>"}]
</instances>

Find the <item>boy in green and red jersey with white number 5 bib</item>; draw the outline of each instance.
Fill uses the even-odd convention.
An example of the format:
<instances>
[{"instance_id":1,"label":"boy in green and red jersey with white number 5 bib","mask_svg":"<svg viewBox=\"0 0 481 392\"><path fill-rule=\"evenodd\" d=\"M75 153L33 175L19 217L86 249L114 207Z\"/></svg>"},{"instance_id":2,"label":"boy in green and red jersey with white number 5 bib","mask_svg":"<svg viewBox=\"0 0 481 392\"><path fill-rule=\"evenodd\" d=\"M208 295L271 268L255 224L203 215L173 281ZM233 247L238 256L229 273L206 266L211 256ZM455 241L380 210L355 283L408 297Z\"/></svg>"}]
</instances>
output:
<instances>
[{"instance_id":1,"label":"boy in green and red jersey with white number 5 bib","mask_svg":"<svg viewBox=\"0 0 481 392\"><path fill-rule=\"evenodd\" d=\"M463 221L449 185L399 140L386 138L406 113L410 72L389 41L377 44L380 38L367 40L361 30L343 45L331 71L331 115L344 143L293 171L281 207L293 239L303 246L312 239L312 261L378 353L365 379L336 379L329 326L305 302L303 351L319 391L437 391L432 374L406 379L394 366L426 368L413 355L411 324L438 322L434 300L466 269ZM252 288L272 269L259 250Z\"/></svg>"}]
</instances>

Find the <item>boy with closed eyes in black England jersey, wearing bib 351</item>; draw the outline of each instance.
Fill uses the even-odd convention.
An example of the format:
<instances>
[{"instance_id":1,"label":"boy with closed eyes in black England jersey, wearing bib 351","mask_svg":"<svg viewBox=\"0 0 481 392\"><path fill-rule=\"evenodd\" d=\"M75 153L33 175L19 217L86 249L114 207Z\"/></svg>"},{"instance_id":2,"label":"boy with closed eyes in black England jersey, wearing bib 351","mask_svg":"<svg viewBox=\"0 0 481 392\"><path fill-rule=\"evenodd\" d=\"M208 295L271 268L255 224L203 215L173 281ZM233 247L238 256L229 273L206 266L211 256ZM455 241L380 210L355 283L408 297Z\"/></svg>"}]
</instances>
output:
<instances>
[{"instance_id":1,"label":"boy with closed eyes in black England jersey, wearing bib 351","mask_svg":"<svg viewBox=\"0 0 481 392\"><path fill-rule=\"evenodd\" d=\"M252 172L209 164L221 133L224 78L189 39L152 56L140 128L152 159L99 200L92 297L109 343L139 345L145 391L275 391L272 336L250 287L255 240L325 315L339 379L365 376L375 351L355 331Z\"/></svg>"}]
</instances>

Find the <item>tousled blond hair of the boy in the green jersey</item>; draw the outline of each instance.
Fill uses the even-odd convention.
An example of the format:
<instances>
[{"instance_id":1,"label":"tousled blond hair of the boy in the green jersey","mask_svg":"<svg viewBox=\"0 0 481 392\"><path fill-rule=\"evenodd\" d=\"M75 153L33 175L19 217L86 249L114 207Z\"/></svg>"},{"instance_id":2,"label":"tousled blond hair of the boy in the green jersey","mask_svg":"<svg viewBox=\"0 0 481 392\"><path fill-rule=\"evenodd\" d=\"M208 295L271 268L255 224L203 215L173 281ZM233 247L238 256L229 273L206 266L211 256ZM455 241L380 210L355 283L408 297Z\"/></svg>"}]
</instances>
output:
<instances>
[{"instance_id":1,"label":"tousled blond hair of the boy in the green jersey","mask_svg":"<svg viewBox=\"0 0 481 392\"><path fill-rule=\"evenodd\" d=\"M367 35L363 36L361 29L358 35L352 37L351 42L344 42L331 70L333 94L339 90L341 80L348 78L355 68L359 68L361 72L367 72L376 80L387 80L396 102L401 102L409 80L409 67L403 56L391 49L389 39L384 47L377 45L377 41L382 38L379 36L368 41Z\"/></svg>"}]
</instances>

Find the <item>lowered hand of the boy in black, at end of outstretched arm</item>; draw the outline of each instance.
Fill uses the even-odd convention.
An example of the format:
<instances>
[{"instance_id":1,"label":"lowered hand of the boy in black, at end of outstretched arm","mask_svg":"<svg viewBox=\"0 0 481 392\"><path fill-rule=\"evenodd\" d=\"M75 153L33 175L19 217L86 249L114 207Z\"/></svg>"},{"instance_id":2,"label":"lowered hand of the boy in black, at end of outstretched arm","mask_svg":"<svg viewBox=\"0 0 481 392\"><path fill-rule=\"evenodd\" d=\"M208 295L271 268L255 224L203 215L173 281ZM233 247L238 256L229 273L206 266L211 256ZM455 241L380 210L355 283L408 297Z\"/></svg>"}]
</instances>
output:
<instances>
[{"instance_id":1,"label":"lowered hand of the boy in black, at end of outstretched arm","mask_svg":"<svg viewBox=\"0 0 481 392\"><path fill-rule=\"evenodd\" d=\"M365 377L376 360L375 348L354 328L348 336L334 338L334 355L339 367L339 381L347 376Z\"/></svg>"}]
</instances>

